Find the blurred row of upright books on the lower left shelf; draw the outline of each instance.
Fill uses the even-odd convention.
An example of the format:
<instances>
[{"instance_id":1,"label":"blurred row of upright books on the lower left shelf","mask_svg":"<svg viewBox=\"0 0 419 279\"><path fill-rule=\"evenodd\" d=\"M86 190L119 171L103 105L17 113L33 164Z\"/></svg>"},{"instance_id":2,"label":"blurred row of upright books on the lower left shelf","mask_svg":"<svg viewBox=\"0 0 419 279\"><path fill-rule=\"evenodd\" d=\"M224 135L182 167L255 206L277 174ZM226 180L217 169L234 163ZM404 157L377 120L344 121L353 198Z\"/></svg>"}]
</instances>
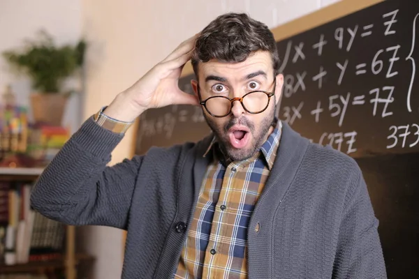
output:
<instances>
[{"instance_id":1,"label":"blurred row of upright books on the lower left shelf","mask_svg":"<svg viewBox=\"0 0 419 279\"><path fill-rule=\"evenodd\" d=\"M31 210L31 188L0 181L0 264L55 259L64 252L64 225Z\"/></svg>"}]
</instances>

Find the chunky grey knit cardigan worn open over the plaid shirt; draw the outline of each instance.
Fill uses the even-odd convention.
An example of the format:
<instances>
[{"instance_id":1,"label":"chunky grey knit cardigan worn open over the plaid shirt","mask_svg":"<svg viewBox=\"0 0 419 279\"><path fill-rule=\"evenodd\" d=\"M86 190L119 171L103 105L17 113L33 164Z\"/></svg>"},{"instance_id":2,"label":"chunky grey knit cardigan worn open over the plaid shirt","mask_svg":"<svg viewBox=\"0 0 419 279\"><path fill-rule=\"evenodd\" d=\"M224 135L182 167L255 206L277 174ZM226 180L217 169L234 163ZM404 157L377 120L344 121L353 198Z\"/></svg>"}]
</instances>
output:
<instances>
[{"instance_id":1,"label":"chunky grey knit cardigan worn open over the plaid shirt","mask_svg":"<svg viewBox=\"0 0 419 279\"><path fill-rule=\"evenodd\" d=\"M386 278L378 220L358 165L285 123L283 129L249 223L249 278ZM62 223L126 229L122 278L172 278L210 137L109 167L122 137L87 119L36 181L31 206Z\"/></svg>"}]
</instances>

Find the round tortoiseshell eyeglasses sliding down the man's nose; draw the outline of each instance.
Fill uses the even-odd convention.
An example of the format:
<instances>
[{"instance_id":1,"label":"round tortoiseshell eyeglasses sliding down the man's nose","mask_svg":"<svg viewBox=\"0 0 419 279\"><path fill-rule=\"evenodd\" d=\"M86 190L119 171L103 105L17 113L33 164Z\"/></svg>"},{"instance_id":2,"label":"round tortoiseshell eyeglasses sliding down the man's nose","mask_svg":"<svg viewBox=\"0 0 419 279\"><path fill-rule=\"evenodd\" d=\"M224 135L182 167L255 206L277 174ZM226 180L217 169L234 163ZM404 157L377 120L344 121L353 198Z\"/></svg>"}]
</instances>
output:
<instances>
[{"instance_id":1,"label":"round tortoiseshell eyeglasses sliding down the man's nose","mask_svg":"<svg viewBox=\"0 0 419 279\"><path fill-rule=\"evenodd\" d=\"M201 100L199 86L198 95L200 99L200 105L205 107L205 110L214 117L225 117L230 114L233 108L233 102L238 100L242 103L242 107L249 114L259 114L264 112L270 103L270 98L274 96L275 88L277 86L276 79L274 79L274 89L272 92L267 91L251 91L246 93L241 98L228 98L226 96L212 96L206 100Z\"/></svg>"}]
</instances>

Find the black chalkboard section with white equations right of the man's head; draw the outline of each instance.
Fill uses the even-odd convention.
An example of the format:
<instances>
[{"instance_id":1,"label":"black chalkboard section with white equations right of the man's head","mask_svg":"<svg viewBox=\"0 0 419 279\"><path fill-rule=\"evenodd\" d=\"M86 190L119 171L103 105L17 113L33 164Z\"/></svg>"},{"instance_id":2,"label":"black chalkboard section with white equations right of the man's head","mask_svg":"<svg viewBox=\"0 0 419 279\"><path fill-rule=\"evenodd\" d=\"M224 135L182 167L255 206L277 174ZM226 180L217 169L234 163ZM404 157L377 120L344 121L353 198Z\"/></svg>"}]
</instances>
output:
<instances>
[{"instance_id":1,"label":"black chalkboard section with white equations right of the man's head","mask_svg":"<svg viewBox=\"0 0 419 279\"><path fill-rule=\"evenodd\" d=\"M385 1L278 43L279 116L353 157L419 150L418 1Z\"/></svg>"}]
</instances>

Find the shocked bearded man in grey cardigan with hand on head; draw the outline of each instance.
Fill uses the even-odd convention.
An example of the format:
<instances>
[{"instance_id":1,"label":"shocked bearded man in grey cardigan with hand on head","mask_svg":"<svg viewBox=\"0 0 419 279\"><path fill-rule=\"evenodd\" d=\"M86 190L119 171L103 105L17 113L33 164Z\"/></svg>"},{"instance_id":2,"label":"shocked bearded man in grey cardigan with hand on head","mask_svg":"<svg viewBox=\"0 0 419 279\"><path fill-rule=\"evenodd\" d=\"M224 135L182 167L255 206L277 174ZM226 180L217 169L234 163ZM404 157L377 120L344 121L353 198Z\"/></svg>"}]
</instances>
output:
<instances>
[{"instance_id":1,"label":"shocked bearded man in grey cardigan with hand on head","mask_svg":"<svg viewBox=\"0 0 419 279\"><path fill-rule=\"evenodd\" d=\"M195 96L177 86L189 59ZM82 124L32 206L126 229L123 278L385 278L360 169L274 117L278 68L265 24L221 15ZM106 166L136 117L172 104L201 105L213 135Z\"/></svg>"}]
</instances>

